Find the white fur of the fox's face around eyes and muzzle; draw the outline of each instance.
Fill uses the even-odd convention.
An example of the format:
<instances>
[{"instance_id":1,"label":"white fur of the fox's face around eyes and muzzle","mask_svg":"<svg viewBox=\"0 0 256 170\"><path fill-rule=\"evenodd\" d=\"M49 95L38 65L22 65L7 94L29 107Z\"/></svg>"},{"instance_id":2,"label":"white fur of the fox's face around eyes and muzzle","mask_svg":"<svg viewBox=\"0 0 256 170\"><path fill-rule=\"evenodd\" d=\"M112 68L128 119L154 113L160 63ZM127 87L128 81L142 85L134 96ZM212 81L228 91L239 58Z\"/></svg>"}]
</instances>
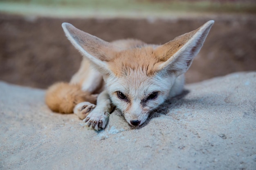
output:
<instances>
[{"instance_id":1,"label":"white fur of the fox's face around eyes and muzzle","mask_svg":"<svg viewBox=\"0 0 256 170\"><path fill-rule=\"evenodd\" d=\"M170 77L148 77L144 72L130 71L127 77L117 78L111 76L106 80L106 88L110 98L115 106L124 114L127 122L131 120L141 121L143 124L148 118L148 114L153 109L156 109L164 102L170 93L170 89L174 84L175 79ZM183 88L182 85L180 88ZM116 92L123 92L129 102L120 100ZM148 100L145 106L141 106L141 100L145 99L152 92L158 92L155 100ZM130 109L127 109L130 105Z\"/></svg>"}]
</instances>

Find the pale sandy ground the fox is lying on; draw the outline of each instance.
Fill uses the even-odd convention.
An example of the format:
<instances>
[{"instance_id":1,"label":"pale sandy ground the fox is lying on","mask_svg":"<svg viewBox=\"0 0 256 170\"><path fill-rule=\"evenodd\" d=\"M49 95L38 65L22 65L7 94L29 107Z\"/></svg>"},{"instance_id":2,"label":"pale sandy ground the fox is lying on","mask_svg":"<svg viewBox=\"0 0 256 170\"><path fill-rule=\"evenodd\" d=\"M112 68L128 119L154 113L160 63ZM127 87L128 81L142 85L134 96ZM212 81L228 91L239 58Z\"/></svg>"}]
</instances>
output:
<instances>
[{"instance_id":1,"label":"pale sandy ground the fox is lying on","mask_svg":"<svg viewBox=\"0 0 256 170\"><path fill-rule=\"evenodd\" d=\"M256 72L186 85L140 128L50 111L45 91L0 82L0 169L256 168Z\"/></svg>"}]
</instances>

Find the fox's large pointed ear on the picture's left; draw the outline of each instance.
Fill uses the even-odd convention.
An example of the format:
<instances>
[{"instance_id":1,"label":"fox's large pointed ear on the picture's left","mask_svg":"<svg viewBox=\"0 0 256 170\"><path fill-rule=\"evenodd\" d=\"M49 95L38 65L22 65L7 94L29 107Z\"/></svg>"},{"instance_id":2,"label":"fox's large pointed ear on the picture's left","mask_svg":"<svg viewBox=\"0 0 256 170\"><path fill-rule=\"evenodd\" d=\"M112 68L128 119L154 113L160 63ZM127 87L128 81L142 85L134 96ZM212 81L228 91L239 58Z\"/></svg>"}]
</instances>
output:
<instances>
[{"instance_id":1,"label":"fox's large pointed ear on the picture's left","mask_svg":"<svg viewBox=\"0 0 256 170\"><path fill-rule=\"evenodd\" d=\"M73 46L79 50L84 57L91 61L99 72L102 74L110 74L107 61L115 56L115 52L119 51L117 47L77 29L72 24L64 22L62 28L67 39L70 40Z\"/></svg>"}]
</instances>

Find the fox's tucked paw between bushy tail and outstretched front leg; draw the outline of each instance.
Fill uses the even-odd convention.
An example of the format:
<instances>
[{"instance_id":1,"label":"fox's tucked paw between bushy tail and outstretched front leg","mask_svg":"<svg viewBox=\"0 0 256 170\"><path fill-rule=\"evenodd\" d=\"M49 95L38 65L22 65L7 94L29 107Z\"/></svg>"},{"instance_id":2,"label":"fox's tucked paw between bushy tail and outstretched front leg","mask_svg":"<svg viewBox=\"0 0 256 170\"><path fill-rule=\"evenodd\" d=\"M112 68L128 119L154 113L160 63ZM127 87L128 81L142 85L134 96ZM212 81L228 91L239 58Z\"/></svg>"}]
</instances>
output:
<instances>
[{"instance_id":1,"label":"fox's tucked paw between bushy tail and outstretched front leg","mask_svg":"<svg viewBox=\"0 0 256 170\"><path fill-rule=\"evenodd\" d=\"M74 108L74 113L83 120L95 107L96 105L90 102L81 102Z\"/></svg>"}]
</instances>

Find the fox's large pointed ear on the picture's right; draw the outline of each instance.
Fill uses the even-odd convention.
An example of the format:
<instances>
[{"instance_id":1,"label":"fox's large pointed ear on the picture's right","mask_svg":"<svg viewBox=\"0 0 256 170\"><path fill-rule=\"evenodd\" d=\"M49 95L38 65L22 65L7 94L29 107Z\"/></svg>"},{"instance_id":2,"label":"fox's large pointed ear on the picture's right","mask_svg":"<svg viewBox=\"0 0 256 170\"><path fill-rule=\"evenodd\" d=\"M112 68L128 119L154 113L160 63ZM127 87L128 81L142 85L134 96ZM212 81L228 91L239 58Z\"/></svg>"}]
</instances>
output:
<instances>
[{"instance_id":1,"label":"fox's large pointed ear on the picture's right","mask_svg":"<svg viewBox=\"0 0 256 170\"><path fill-rule=\"evenodd\" d=\"M156 48L157 56L163 61L157 70L163 73L174 72L177 76L185 73L202 48L213 23L213 20L208 21L200 28Z\"/></svg>"}]
</instances>

